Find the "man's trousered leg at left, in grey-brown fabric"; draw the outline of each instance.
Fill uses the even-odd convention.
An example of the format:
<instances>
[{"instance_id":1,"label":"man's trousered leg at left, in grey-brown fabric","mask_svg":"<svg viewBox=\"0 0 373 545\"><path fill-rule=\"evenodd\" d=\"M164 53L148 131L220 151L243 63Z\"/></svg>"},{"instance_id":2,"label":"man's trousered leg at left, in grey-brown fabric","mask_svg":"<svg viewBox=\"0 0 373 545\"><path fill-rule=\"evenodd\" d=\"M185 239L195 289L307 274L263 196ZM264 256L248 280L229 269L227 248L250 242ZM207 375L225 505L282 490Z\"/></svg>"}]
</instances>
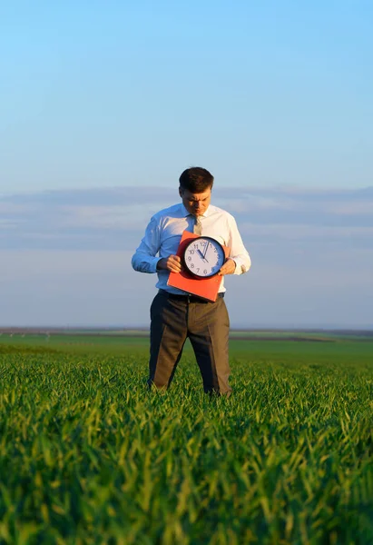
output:
<instances>
[{"instance_id":1,"label":"man's trousered leg at left, in grey-brown fabric","mask_svg":"<svg viewBox=\"0 0 373 545\"><path fill-rule=\"evenodd\" d=\"M151 306L151 357L148 385L167 389L187 337L187 304L159 292Z\"/></svg>"}]
</instances>

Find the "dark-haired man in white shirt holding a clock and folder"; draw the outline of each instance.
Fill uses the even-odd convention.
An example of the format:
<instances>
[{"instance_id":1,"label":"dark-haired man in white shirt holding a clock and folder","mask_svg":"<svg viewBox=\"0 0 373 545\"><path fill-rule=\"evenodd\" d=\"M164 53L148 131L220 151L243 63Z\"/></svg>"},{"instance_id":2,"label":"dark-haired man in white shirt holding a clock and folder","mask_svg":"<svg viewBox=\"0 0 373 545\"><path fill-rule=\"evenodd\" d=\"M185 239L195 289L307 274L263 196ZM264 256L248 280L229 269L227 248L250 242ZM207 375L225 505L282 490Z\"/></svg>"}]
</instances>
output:
<instances>
[{"instance_id":1,"label":"dark-haired man in white shirt holding a clock and folder","mask_svg":"<svg viewBox=\"0 0 373 545\"><path fill-rule=\"evenodd\" d=\"M182 203L152 216L133 255L135 271L158 274L159 292L151 306L150 387L167 389L170 386L184 342L189 337L204 391L231 393L228 381L230 321L224 302L224 276L249 271L250 256L231 214L210 203L213 180L204 168L185 170L179 179ZM211 236L230 248L230 257L219 271L221 285L216 302L207 302L167 285L170 272L182 270L176 253L185 230Z\"/></svg>"}]
</instances>

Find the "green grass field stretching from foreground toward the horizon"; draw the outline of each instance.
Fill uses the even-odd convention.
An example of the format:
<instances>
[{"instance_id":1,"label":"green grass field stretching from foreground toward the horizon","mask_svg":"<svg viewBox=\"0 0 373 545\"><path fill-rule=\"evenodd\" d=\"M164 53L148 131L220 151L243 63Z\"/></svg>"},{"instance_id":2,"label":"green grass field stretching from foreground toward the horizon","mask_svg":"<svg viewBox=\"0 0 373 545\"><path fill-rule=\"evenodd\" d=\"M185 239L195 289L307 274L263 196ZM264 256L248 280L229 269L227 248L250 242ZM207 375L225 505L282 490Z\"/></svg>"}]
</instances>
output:
<instances>
[{"instance_id":1,"label":"green grass field stretching from foreground toward the horizon","mask_svg":"<svg viewBox=\"0 0 373 545\"><path fill-rule=\"evenodd\" d=\"M0 542L373 543L373 342L231 341L229 399L190 348L0 338Z\"/></svg>"}]
</instances>

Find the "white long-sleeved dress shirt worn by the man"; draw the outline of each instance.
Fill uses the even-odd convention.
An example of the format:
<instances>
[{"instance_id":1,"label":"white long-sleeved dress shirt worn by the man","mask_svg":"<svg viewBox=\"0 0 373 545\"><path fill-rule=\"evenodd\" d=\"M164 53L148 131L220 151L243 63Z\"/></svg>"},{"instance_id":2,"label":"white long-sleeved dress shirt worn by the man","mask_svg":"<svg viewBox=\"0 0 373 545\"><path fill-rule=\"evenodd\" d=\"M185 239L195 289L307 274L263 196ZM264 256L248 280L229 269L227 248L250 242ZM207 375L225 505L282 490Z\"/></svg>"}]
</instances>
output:
<instances>
[{"instance_id":1,"label":"white long-sleeved dress shirt worn by the man","mask_svg":"<svg viewBox=\"0 0 373 545\"><path fill-rule=\"evenodd\" d=\"M250 269L250 255L240 238L233 216L211 204L200 216L202 235L211 236L230 248L230 257L236 263L234 274ZM163 257L177 253L183 231L193 231L194 218L182 203L174 204L154 214L146 228L145 236L133 255L133 269L139 272L157 272L157 288L171 293L184 294L182 290L167 285L170 272L157 271L157 263ZM219 292L225 292L224 276L221 277Z\"/></svg>"}]
</instances>

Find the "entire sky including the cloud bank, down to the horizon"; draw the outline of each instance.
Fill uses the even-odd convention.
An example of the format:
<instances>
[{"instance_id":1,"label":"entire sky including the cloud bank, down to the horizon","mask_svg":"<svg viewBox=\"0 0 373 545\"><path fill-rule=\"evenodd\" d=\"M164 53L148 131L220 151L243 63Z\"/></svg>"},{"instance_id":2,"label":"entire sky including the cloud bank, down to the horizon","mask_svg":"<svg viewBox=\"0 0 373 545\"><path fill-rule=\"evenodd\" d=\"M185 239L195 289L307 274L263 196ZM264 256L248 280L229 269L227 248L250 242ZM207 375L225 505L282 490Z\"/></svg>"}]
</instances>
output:
<instances>
[{"instance_id":1,"label":"entire sky including the cloud bank, down to the horizon","mask_svg":"<svg viewBox=\"0 0 373 545\"><path fill-rule=\"evenodd\" d=\"M237 327L373 327L373 4L0 1L0 325L146 325L191 165L252 258Z\"/></svg>"}]
</instances>

